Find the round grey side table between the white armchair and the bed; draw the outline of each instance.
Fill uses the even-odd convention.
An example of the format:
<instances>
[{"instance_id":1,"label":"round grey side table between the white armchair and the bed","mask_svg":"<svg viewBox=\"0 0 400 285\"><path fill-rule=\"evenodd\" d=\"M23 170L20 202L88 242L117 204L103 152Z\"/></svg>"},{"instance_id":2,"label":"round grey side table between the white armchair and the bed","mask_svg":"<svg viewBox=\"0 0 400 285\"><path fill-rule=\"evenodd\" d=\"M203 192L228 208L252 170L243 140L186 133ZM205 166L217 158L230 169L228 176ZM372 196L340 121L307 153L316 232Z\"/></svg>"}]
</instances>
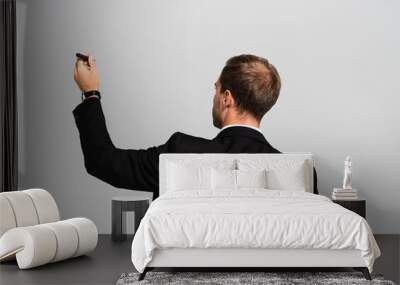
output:
<instances>
[{"instance_id":1,"label":"round grey side table between the white armchair and the bed","mask_svg":"<svg viewBox=\"0 0 400 285\"><path fill-rule=\"evenodd\" d=\"M151 198L138 196L114 196L111 200L111 239L112 241L124 241L127 234L122 232L123 212L135 212L135 231L144 217Z\"/></svg>"}]
</instances>

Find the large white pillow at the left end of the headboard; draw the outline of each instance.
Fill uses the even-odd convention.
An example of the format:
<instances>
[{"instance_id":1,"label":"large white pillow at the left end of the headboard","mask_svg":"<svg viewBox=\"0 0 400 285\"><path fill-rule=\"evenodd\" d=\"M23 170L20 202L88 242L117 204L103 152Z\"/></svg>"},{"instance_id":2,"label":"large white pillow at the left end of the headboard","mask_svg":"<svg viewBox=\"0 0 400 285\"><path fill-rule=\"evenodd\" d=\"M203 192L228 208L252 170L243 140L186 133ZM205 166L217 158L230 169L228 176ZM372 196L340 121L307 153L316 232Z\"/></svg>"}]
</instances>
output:
<instances>
[{"instance_id":1,"label":"large white pillow at the left end of the headboard","mask_svg":"<svg viewBox=\"0 0 400 285\"><path fill-rule=\"evenodd\" d=\"M183 165L169 161L166 180L167 191L210 189L211 166Z\"/></svg>"}]
</instances>

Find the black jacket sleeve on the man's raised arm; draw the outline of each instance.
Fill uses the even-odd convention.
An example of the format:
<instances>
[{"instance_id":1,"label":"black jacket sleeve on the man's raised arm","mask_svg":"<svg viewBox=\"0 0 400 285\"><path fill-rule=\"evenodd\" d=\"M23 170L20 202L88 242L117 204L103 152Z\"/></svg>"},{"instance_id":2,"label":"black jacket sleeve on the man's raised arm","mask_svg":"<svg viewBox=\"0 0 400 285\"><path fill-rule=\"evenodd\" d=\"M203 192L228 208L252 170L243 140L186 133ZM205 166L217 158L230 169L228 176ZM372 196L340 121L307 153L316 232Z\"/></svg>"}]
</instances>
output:
<instances>
[{"instance_id":1,"label":"black jacket sleeve on the man's raised arm","mask_svg":"<svg viewBox=\"0 0 400 285\"><path fill-rule=\"evenodd\" d=\"M174 134L162 145L120 149L107 131L99 99L84 100L72 111L87 172L114 187L158 192L159 154L170 152Z\"/></svg>"}]
</instances>

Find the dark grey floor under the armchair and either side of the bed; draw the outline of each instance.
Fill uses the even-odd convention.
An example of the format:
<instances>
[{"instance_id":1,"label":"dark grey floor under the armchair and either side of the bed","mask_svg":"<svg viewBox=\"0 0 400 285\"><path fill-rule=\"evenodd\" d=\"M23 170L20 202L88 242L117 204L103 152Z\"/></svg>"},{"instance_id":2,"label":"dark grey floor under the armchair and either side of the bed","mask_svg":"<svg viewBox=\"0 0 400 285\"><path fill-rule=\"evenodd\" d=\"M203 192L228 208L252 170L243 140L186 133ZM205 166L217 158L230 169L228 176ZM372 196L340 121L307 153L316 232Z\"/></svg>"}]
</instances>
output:
<instances>
[{"instance_id":1,"label":"dark grey floor under the armchair and either side of the bed","mask_svg":"<svg viewBox=\"0 0 400 285\"><path fill-rule=\"evenodd\" d=\"M399 283L400 235L376 235L382 256L374 272ZM135 271L131 262L132 236L112 242L110 235L99 235L96 249L79 256L32 269L19 270L16 261L0 264L0 284L115 284L123 272Z\"/></svg>"}]
</instances>

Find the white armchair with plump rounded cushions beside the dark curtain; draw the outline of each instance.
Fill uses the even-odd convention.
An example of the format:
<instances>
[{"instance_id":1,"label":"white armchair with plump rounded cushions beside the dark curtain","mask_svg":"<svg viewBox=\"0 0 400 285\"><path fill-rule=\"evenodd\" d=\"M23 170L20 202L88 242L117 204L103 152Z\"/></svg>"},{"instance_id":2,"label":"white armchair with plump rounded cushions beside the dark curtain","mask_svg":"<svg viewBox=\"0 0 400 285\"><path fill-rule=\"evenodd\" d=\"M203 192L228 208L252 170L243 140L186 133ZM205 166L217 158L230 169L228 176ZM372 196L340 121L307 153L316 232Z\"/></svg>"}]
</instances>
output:
<instances>
[{"instance_id":1,"label":"white armchair with plump rounded cushions beside the dark curtain","mask_svg":"<svg viewBox=\"0 0 400 285\"><path fill-rule=\"evenodd\" d=\"M16 259L20 269L57 262L94 250L97 238L87 218L60 221L44 189L0 193L0 262Z\"/></svg>"}]
</instances>

